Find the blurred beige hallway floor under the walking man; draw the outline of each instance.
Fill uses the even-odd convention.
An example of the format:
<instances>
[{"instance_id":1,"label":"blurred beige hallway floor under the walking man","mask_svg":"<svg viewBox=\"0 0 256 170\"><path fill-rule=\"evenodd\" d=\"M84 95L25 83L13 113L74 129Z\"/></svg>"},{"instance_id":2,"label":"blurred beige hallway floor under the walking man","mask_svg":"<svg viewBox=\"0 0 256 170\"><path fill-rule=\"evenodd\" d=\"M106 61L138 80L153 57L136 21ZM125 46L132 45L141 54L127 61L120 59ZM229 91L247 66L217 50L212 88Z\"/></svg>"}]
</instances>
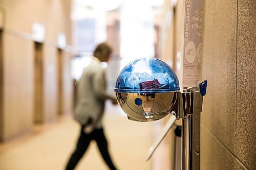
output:
<instances>
[{"instance_id":1,"label":"blurred beige hallway floor under the walking man","mask_svg":"<svg viewBox=\"0 0 256 170\"><path fill-rule=\"evenodd\" d=\"M118 106L108 104L104 125L110 153L119 169L153 169L152 160L145 161L152 143L152 123L128 120ZM32 133L0 144L0 169L65 169L78 135L79 125L71 115L62 117L57 123L36 126ZM91 143L76 169L108 169L95 142Z\"/></svg>"}]
</instances>

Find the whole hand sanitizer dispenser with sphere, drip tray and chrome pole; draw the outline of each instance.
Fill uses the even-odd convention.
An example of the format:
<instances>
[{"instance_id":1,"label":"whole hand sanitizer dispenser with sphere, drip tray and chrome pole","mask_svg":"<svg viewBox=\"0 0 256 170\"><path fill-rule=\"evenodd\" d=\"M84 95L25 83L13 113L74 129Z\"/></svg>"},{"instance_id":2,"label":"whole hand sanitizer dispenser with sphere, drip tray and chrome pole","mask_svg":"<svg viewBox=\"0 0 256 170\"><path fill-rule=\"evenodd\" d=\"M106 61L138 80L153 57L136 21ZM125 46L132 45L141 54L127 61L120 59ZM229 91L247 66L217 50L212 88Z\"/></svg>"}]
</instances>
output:
<instances>
[{"instance_id":1,"label":"whole hand sanitizer dispenser with sphere, drip tray and chrome pole","mask_svg":"<svg viewBox=\"0 0 256 170\"><path fill-rule=\"evenodd\" d=\"M173 69L155 58L137 59L121 70L114 91L118 104L130 120L149 122L170 113L174 115L159 133L147 159L175 120L182 118L182 169L200 167L200 112L206 85L204 81L199 84L200 91L181 93Z\"/></svg>"}]
</instances>

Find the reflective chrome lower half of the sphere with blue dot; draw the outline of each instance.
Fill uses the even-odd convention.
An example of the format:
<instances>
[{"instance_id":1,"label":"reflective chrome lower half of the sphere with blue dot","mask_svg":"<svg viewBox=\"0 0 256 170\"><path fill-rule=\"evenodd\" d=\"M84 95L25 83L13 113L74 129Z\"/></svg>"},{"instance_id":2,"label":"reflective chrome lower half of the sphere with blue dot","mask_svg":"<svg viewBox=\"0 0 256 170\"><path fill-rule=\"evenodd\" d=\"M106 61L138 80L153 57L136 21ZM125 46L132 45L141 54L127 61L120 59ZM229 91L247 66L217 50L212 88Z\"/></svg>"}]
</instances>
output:
<instances>
[{"instance_id":1,"label":"reflective chrome lower half of the sphere with blue dot","mask_svg":"<svg viewBox=\"0 0 256 170\"><path fill-rule=\"evenodd\" d=\"M165 93L116 92L122 110L131 120L154 121L169 114L177 98L177 91Z\"/></svg>"}]
</instances>

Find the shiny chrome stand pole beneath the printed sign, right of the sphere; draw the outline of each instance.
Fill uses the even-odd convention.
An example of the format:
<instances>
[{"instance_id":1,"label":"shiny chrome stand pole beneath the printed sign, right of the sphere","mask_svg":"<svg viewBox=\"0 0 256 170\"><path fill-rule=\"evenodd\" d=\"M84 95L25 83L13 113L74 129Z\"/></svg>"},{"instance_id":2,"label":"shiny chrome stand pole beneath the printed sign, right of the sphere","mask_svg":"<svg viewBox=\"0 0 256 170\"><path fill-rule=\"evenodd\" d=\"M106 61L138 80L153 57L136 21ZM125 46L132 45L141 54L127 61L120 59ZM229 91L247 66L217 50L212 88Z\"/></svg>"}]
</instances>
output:
<instances>
[{"instance_id":1,"label":"shiny chrome stand pole beneath the printed sign, right of the sphere","mask_svg":"<svg viewBox=\"0 0 256 170\"><path fill-rule=\"evenodd\" d=\"M183 93L182 170L200 169L200 103L198 94Z\"/></svg>"}]
</instances>

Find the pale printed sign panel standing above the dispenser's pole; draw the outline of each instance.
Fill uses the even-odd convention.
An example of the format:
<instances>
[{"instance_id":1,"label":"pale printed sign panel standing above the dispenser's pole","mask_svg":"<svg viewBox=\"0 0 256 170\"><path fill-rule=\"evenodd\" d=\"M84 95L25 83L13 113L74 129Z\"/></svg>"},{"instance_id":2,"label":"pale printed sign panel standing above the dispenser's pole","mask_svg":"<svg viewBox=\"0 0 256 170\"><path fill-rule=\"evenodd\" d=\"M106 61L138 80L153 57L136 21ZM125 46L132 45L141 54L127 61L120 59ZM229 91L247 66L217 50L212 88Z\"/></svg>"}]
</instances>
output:
<instances>
[{"instance_id":1,"label":"pale printed sign panel standing above the dispenser's pole","mask_svg":"<svg viewBox=\"0 0 256 170\"><path fill-rule=\"evenodd\" d=\"M195 91L202 81L204 6L205 0L183 2L181 92Z\"/></svg>"}]
</instances>

